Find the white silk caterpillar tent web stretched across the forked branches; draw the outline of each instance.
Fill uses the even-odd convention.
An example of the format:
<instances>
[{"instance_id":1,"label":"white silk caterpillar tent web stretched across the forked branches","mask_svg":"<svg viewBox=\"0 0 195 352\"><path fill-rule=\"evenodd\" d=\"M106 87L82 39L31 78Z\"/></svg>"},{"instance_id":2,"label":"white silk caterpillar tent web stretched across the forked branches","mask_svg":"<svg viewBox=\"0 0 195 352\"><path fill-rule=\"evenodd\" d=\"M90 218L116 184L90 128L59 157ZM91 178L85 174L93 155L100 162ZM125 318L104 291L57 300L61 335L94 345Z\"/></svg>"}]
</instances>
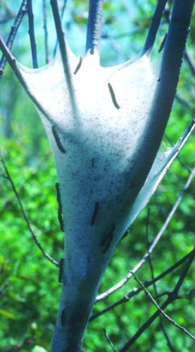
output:
<instances>
[{"instance_id":1,"label":"white silk caterpillar tent web stretched across the forked branches","mask_svg":"<svg viewBox=\"0 0 195 352\"><path fill-rule=\"evenodd\" d=\"M68 84L62 52L49 65L34 70L8 56L42 119L59 180L65 268L51 351L79 350L115 246L180 151L183 140L158 151L182 61L182 49L178 69L172 70L168 61L174 26L173 21L160 70L154 70L147 52L122 65L102 68L96 51L77 58L66 43ZM184 40L181 43L184 48Z\"/></svg>"}]
</instances>

